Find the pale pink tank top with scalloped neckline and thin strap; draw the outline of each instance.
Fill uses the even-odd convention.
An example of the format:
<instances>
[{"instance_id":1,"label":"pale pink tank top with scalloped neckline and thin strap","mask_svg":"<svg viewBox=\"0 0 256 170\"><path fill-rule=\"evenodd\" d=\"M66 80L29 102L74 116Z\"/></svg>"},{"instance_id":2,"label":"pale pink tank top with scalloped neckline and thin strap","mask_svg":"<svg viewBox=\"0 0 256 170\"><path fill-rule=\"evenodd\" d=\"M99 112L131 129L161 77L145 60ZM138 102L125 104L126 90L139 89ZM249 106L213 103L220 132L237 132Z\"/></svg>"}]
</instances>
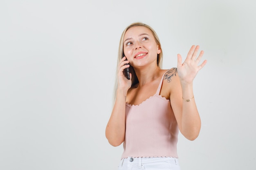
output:
<instances>
[{"instance_id":1,"label":"pale pink tank top with scalloped neckline and thin strap","mask_svg":"<svg viewBox=\"0 0 256 170\"><path fill-rule=\"evenodd\" d=\"M170 100L159 95L164 75L155 95L139 105L126 103L126 133L122 158L178 157L179 129Z\"/></svg>"}]
</instances>

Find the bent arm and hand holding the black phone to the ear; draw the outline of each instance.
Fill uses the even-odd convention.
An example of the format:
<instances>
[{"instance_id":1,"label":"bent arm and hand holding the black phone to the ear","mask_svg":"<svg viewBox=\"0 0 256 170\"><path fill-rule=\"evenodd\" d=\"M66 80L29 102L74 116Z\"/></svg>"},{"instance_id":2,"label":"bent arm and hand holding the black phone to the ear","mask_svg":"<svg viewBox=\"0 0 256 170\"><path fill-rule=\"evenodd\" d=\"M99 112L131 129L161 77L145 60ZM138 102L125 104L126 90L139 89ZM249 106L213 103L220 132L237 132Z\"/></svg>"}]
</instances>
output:
<instances>
[{"instance_id":1,"label":"bent arm and hand holding the black phone to the ear","mask_svg":"<svg viewBox=\"0 0 256 170\"><path fill-rule=\"evenodd\" d=\"M125 65L128 64L128 61L124 60L125 57L121 60L118 66L117 95L110 119L106 127L106 138L112 146L119 146L122 144L125 137L126 94L131 86L131 79L128 80L123 74L123 70L129 67L129 65Z\"/></svg>"}]
</instances>

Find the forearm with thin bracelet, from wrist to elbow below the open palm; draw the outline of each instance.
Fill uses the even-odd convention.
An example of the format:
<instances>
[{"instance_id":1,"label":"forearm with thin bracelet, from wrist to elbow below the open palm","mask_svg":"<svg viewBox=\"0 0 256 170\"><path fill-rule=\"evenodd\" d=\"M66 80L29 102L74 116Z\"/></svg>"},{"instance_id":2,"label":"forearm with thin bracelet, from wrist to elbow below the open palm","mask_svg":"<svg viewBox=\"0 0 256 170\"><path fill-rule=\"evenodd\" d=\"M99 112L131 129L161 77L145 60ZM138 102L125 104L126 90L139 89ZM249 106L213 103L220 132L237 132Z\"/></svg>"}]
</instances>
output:
<instances>
[{"instance_id":1,"label":"forearm with thin bracelet, from wrist to elbow below the open palm","mask_svg":"<svg viewBox=\"0 0 256 170\"><path fill-rule=\"evenodd\" d=\"M192 84L182 85L182 98L181 132L187 139L194 140L199 135L201 120L195 104Z\"/></svg>"}]
</instances>

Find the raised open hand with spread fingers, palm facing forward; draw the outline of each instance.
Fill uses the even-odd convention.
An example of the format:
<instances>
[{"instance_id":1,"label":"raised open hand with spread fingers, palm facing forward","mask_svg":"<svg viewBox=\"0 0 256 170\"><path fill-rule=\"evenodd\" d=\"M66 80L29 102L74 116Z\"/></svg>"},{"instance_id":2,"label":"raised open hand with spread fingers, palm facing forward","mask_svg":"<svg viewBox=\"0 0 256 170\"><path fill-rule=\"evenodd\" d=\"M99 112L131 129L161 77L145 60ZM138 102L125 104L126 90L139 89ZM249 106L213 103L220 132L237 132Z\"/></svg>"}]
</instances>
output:
<instances>
[{"instance_id":1,"label":"raised open hand with spread fingers, palm facing forward","mask_svg":"<svg viewBox=\"0 0 256 170\"><path fill-rule=\"evenodd\" d=\"M191 46L189 53L185 59L185 61L182 63L182 57L180 54L177 55L178 57L178 64L177 64L177 72L180 77L180 81L182 83L193 83L193 79L197 75L198 71L203 68L203 66L207 63L207 60L204 60L202 64L198 65L204 51L200 51L198 57L197 53L199 50L199 46Z\"/></svg>"}]
</instances>

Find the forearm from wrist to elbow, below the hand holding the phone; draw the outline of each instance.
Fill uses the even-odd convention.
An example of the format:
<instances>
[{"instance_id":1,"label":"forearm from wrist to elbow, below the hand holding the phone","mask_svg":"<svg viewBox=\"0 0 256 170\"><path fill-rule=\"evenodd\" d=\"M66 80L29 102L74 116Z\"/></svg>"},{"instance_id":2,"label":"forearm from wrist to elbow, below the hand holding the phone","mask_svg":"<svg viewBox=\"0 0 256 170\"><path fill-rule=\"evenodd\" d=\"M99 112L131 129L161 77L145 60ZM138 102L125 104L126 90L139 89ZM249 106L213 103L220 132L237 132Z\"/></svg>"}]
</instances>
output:
<instances>
[{"instance_id":1,"label":"forearm from wrist to elbow, below the hand holding the phone","mask_svg":"<svg viewBox=\"0 0 256 170\"><path fill-rule=\"evenodd\" d=\"M115 104L106 127L106 138L112 146L119 146L124 141L126 93L117 90Z\"/></svg>"}]
</instances>

